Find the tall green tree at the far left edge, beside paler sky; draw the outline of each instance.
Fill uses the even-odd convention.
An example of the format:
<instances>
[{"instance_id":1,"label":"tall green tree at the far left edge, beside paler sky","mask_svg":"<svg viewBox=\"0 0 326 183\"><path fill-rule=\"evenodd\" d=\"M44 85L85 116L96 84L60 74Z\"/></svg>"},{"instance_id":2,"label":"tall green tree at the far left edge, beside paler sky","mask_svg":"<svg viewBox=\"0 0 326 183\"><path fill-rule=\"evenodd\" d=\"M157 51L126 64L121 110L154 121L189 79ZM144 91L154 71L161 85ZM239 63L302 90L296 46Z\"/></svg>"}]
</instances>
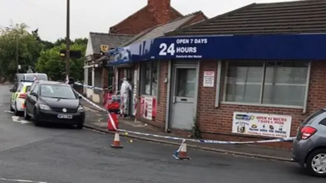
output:
<instances>
[{"instance_id":1,"label":"tall green tree at the far left edge, beside paler sky","mask_svg":"<svg viewBox=\"0 0 326 183\"><path fill-rule=\"evenodd\" d=\"M20 72L26 72L29 66L34 67L43 46L26 29L24 23L10 25L0 29L0 74L6 79L12 80L17 71L17 43L18 64Z\"/></svg>"}]
</instances>

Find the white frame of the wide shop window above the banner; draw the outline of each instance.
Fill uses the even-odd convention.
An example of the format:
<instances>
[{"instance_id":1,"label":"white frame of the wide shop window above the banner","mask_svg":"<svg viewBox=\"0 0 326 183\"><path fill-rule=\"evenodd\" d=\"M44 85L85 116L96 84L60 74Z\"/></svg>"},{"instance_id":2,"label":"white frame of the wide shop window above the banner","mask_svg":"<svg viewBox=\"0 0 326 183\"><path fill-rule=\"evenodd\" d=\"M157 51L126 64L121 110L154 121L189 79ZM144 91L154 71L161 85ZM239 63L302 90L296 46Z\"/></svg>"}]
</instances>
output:
<instances>
[{"instance_id":1,"label":"white frame of the wide shop window above the banner","mask_svg":"<svg viewBox=\"0 0 326 183\"><path fill-rule=\"evenodd\" d=\"M266 71L266 62L267 61L257 61L264 62L263 64L263 74L260 85L263 85L265 80L265 71ZM218 69L217 69L217 79L216 79L216 96L215 96L215 107L219 107L220 104L232 104L232 105L247 105L247 106L259 106L259 107L277 107L277 108L292 108L292 109L303 109L303 113L307 112L307 103L308 103L308 93L309 93L309 81L310 81L310 73L311 73L311 62L308 63L308 71L307 71L307 82L305 89L305 97L302 106L292 106L292 105L279 105L279 104L263 104L261 95L263 93L264 86L261 87L260 90L260 101L259 103L242 103L242 102L229 102L225 101L226 98L226 84L227 84L227 68L228 61L226 61L224 67L222 66L222 61L218 61ZM223 87L221 87L223 84ZM257 83L258 84L258 83ZM221 97L222 93L222 97Z\"/></svg>"}]
</instances>

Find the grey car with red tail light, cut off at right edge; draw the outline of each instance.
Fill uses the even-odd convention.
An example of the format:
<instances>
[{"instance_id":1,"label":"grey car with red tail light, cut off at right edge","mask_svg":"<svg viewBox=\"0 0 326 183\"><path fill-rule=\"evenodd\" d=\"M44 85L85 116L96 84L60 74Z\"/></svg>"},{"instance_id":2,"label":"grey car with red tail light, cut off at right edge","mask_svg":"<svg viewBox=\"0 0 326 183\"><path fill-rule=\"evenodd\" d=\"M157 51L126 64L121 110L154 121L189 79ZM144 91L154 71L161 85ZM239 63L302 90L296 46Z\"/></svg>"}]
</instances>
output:
<instances>
[{"instance_id":1,"label":"grey car with red tail light, cut off at right edge","mask_svg":"<svg viewBox=\"0 0 326 183\"><path fill-rule=\"evenodd\" d=\"M326 177L326 109L306 118L293 141L292 160L314 176Z\"/></svg>"}]
</instances>

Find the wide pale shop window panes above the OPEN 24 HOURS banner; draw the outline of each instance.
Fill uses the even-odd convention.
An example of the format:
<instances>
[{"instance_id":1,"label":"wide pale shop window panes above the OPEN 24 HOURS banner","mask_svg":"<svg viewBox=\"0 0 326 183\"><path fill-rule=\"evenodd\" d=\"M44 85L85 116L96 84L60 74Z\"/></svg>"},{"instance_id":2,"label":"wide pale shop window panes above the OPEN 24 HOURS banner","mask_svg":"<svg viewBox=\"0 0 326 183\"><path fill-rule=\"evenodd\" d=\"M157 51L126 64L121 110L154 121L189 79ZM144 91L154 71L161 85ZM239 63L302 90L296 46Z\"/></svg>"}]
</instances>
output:
<instances>
[{"instance_id":1,"label":"wide pale shop window panes above the OPEN 24 HOURS banner","mask_svg":"<svg viewBox=\"0 0 326 183\"><path fill-rule=\"evenodd\" d=\"M303 106L307 62L228 62L224 101Z\"/></svg>"}]
</instances>

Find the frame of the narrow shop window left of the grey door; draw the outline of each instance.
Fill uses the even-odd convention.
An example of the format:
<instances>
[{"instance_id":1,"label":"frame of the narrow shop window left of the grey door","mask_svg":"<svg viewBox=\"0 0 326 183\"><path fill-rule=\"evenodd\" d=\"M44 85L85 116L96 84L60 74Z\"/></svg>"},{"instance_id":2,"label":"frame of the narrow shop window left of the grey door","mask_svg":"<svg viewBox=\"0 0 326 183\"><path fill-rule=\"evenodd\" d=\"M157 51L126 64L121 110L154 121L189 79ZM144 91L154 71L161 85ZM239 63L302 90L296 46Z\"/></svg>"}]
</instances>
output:
<instances>
[{"instance_id":1,"label":"frame of the narrow shop window left of the grey door","mask_svg":"<svg viewBox=\"0 0 326 183\"><path fill-rule=\"evenodd\" d=\"M155 62L155 63L154 63ZM147 65L150 64L150 73L149 73L149 78L150 78L150 95L145 94L145 77L146 77L146 70L147 70ZM154 64L156 64L156 69L157 69L157 84L156 84L156 94L153 95L152 91L153 91L153 81L152 81L152 77L153 77L153 66ZM149 96L149 97L156 97L158 96L158 85L159 85L159 63L158 60L153 60L150 62L144 62L141 63L141 87L140 87L140 95L141 96Z\"/></svg>"}]
</instances>

